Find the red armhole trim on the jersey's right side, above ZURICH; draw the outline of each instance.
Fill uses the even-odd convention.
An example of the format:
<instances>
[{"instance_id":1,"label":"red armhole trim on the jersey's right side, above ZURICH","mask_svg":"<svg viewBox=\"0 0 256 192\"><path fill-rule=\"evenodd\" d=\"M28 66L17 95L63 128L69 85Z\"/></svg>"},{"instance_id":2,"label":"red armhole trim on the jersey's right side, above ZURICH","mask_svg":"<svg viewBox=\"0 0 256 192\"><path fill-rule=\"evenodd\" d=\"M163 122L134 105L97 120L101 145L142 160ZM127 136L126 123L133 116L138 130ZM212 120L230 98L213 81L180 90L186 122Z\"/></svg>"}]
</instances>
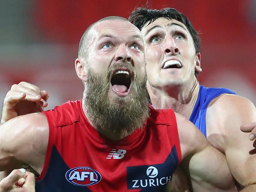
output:
<instances>
[{"instance_id":1,"label":"red armhole trim on the jersey's right side, above ZURICH","mask_svg":"<svg viewBox=\"0 0 256 192\"><path fill-rule=\"evenodd\" d=\"M176 120L176 116L175 116L175 113L173 111L173 109L170 109L168 110L170 113L170 120L171 120L171 123L172 123L172 126L173 126L173 131L174 133L176 133L175 135L177 135L177 137L173 137L173 140L174 140L174 143L175 143L175 146L176 146L176 151L177 151L177 154L178 154L178 159L179 159L179 164L182 160L182 154L181 154L181 149L180 149L180 137L179 137L179 132L178 132L178 127L177 127L177 120Z\"/></svg>"}]
</instances>

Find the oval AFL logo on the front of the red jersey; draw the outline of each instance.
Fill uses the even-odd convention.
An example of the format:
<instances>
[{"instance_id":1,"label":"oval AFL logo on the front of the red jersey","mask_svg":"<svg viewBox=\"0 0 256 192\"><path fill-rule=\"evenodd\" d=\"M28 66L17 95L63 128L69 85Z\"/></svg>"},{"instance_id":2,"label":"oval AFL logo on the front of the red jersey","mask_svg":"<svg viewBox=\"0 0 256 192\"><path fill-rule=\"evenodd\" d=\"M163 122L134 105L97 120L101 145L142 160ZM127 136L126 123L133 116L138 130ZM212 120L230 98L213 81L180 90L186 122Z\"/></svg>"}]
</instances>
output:
<instances>
[{"instance_id":1,"label":"oval AFL logo on the front of the red jersey","mask_svg":"<svg viewBox=\"0 0 256 192\"><path fill-rule=\"evenodd\" d=\"M91 186L100 182L101 175L91 167L75 167L67 171L66 179L73 185Z\"/></svg>"}]
</instances>

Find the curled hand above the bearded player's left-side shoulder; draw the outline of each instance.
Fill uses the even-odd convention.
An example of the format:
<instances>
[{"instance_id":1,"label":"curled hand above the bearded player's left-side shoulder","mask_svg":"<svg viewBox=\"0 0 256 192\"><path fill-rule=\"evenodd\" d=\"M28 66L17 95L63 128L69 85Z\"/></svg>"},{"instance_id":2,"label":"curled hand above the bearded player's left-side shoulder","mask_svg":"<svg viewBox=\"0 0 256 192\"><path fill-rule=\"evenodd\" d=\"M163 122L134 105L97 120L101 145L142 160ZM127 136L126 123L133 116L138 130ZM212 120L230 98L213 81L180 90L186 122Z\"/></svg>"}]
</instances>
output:
<instances>
[{"instance_id":1,"label":"curled hand above the bearded player's left-side shoulder","mask_svg":"<svg viewBox=\"0 0 256 192\"><path fill-rule=\"evenodd\" d=\"M46 90L26 82L11 86L4 98L1 124L23 114L42 111L48 105L49 98Z\"/></svg>"}]
</instances>

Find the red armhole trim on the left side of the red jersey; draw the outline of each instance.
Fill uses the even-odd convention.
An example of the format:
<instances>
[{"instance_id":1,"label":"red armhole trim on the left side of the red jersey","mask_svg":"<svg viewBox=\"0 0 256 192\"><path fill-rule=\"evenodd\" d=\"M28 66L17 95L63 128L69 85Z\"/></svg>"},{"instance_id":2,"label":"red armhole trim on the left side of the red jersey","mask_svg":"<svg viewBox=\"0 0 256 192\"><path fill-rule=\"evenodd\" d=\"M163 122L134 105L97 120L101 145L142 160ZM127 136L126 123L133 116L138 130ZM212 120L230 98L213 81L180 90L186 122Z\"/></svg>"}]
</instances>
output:
<instances>
[{"instance_id":1,"label":"red armhole trim on the left side of the red jersey","mask_svg":"<svg viewBox=\"0 0 256 192\"><path fill-rule=\"evenodd\" d=\"M46 174L46 171L48 169L48 164L50 162L50 157L52 154L52 146L54 144L55 140L55 134L54 134L54 122L52 119L52 116L49 113L53 113L52 111L42 111L43 114L45 114L47 121L48 121L48 126L49 126L49 138L48 138L48 145L47 145L47 150L46 150L46 156L45 156L45 163L43 166L43 170L39 177L36 178L37 181L40 181L43 179L43 177Z\"/></svg>"}]
</instances>

